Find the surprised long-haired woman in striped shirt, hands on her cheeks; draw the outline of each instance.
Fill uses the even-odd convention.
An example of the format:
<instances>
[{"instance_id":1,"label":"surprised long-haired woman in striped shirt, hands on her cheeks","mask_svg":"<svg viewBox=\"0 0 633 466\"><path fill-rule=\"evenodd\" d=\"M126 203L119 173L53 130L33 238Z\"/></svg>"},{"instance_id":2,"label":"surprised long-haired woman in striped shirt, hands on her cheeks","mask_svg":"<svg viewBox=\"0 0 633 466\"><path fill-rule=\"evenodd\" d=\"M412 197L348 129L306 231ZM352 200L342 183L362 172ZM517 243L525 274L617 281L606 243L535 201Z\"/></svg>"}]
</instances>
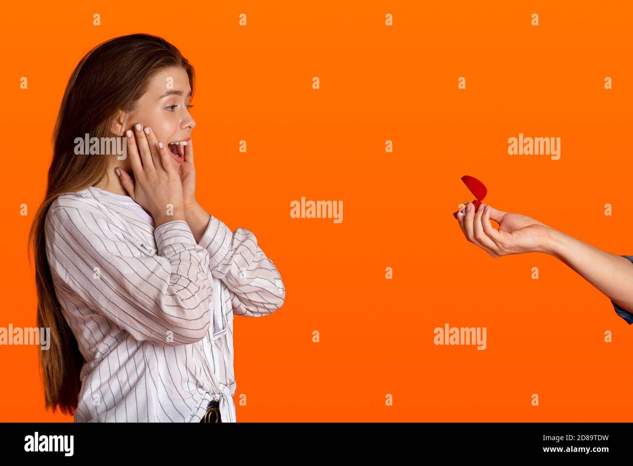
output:
<instances>
[{"instance_id":1,"label":"surprised long-haired woman in striped shirt, hands on her cheeks","mask_svg":"<svg viewBox=\"0 0 633 466\"><path fill-rule=\"evenodd\" d=\"M46 406L75 422L235 422L233 315L284 303L253 233L196 202L193 89L146 34L92 49L66 86L29 242Z\"/></svg>"}]
</instances>

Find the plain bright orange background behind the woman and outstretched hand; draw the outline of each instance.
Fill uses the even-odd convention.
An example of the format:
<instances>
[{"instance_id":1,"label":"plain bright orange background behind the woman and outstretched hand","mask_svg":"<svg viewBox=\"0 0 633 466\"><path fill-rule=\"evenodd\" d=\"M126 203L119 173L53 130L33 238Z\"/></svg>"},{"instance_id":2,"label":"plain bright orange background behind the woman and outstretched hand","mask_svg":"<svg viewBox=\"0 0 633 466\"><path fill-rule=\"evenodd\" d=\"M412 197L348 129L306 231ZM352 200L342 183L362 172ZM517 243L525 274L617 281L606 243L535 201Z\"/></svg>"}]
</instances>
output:
<instances>
[{"instance_id":1,"label":"plain bright orange background behind the woman and outstretched hand","mask_svg":"<svg viewBox=\"0 0 633 466\"><path fill-rule=\"evenodd\" d=\"M633 327L608 298L546 254L492 259L452 215L469 174L492 207L633 255L626 3L9 3L0 327L36 325L27 233L68 77L147 32L196 68L199 202L253 231L287 290L234 321L239 422L630 421ZM560 160L508 155L519 133L560 137ZM343 200L343 222L291 219L302 196ZM487 327L487 349L435 346L447 322ZM0 346L1 421L72 421L44 409L37 351Z\"/></svg>"}]
</instances>

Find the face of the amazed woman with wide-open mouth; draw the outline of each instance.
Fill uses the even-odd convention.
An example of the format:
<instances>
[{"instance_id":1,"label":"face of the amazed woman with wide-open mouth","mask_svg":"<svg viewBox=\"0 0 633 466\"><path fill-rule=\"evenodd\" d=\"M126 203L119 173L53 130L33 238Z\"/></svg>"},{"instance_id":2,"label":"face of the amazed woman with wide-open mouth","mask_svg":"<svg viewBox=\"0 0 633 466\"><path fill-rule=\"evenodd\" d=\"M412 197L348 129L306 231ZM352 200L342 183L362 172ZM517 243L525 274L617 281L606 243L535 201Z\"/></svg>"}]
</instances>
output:
<instances>
[{"instance_id":1,"label":"face of the amazed woman with wide-open mouth","mask_svg":"<svg viewBox=\"0 0 633 466\"><path fill-rule=\"evenodd\" d=\"M185 146L172 143L189 141L196 121L189 114L191 86L182 67L165 68L149 82L147 92L139 99L138 107L125 119L125 129L140 123L149 126L158 141L172 151L176 169L184 162Z\"/></svg>"}]
</instances>

